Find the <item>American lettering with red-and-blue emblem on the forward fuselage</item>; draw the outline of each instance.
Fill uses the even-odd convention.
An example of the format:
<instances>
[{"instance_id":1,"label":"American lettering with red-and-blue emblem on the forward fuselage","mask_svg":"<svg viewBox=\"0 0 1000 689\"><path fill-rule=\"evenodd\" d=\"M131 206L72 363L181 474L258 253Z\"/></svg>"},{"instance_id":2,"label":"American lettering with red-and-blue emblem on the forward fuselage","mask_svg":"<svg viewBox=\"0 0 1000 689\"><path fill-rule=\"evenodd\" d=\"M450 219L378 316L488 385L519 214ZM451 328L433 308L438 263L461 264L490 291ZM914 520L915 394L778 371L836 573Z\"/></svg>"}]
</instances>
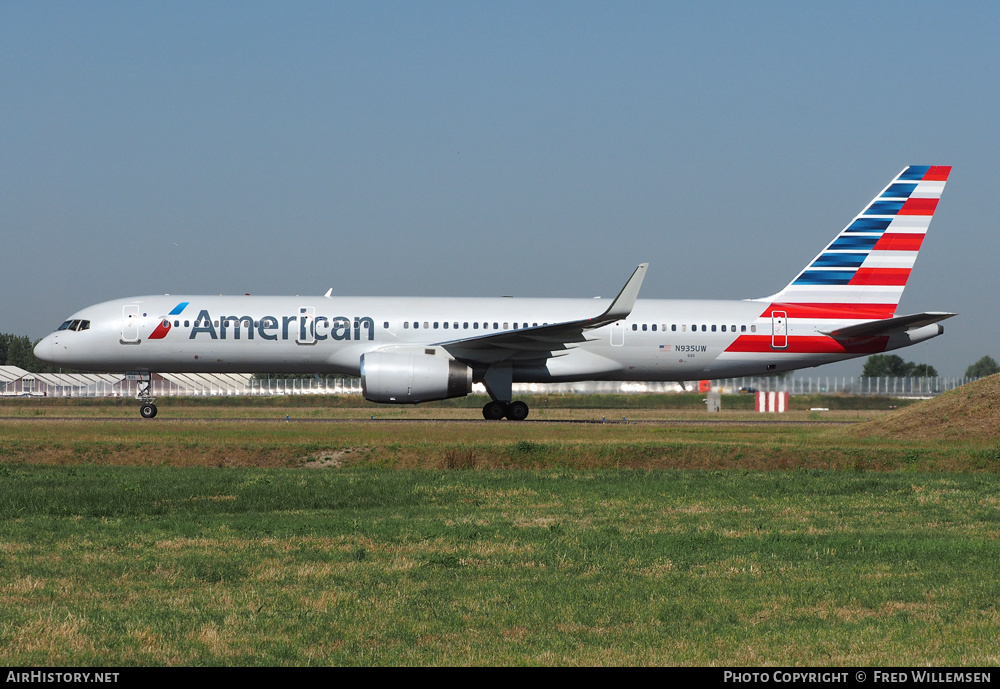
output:
<instances>
[{"instance_id":1,"label":"American lettering with red-and-blue emblem on the forward fuselage","mask_svg":"<svg viewBox=\"0 0 1000 689\"><path fill-rule=\"evenodd\" d=\"M178 316L190 302L181 302L170 312ZM171 330L169 318L164 318L149 339L159 340ZM213 317L202 309L191 327L189 340L199 335L211 340L261 340L277 341L294 339L298 342L323 340L374 340L375 321L369 316L316 316L311 309L302 308L295 316L219 316Z\"/></svg>"}]
</instances>

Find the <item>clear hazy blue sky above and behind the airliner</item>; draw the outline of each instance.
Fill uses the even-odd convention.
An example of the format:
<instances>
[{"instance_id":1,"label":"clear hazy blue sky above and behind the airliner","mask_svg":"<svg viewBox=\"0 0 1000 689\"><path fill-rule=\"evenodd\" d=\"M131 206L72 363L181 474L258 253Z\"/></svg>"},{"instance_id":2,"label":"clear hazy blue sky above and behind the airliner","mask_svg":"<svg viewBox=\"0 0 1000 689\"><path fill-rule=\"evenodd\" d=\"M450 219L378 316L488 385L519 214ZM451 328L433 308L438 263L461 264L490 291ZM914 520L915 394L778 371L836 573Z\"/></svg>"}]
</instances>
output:
<instances>
[{"instance_id":1,"label":"clear hazy blue sky above and behind the airliner","mask_svg":"<svg viewBox=\"0 0 1000 689\"><path fill-rule=\"evenodd\" d=\"M150 293L747 298L953 165L904 350L1000 360L1000 5L0 3L0 332ZM857 375L862 361L828 369ZM823 373L827 369L820 369Z\"/></svg>"}]
</instances>

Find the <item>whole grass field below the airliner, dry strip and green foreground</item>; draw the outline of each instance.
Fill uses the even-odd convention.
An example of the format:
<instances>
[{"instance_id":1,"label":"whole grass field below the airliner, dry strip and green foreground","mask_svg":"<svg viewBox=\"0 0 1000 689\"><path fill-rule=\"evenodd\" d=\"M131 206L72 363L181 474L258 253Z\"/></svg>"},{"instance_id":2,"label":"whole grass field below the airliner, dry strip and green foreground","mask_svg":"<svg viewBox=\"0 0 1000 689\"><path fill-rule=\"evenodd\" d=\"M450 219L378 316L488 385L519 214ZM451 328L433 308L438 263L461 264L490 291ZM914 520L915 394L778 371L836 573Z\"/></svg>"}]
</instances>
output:
<instances>
[{"instance_id":1,"label":"whole grass field below the airliner, dry strip and green foreground","mask_svg":"<svg viewBox=\"0 0 1000 689\"><path fill-rule=\"evenodd\" d=\"M0 659L1000 661L995 443L739 417L3 421Z\"/></svg>"}]
</instances>

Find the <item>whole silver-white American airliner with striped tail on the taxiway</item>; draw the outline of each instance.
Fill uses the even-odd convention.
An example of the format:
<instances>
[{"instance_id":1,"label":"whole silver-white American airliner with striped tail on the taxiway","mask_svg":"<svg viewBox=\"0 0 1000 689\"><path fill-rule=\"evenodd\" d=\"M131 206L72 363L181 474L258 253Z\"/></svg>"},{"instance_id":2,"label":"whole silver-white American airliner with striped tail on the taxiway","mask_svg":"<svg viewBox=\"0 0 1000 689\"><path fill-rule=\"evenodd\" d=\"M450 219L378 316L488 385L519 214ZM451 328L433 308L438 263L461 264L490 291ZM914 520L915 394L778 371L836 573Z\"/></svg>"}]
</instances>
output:
<instances>
[{"instance_id":1,"label":"whole silver-white American airliner with striped tail on the taxiway","mask_svg":"<svg viewBox=\"0 0 1000 689\"><path fill-rule=\"evenodd\" d=\"M896 315L950 166L905 168L783 289L733 301L637 299L640 264L594 299L142 296L89 306L35 356L150 374L359 376L365 399L415 404L483 383L489 420L520 421L518 382L688 381L780 373L907 347L956 315Z\"/></svg>"}]
</instances>

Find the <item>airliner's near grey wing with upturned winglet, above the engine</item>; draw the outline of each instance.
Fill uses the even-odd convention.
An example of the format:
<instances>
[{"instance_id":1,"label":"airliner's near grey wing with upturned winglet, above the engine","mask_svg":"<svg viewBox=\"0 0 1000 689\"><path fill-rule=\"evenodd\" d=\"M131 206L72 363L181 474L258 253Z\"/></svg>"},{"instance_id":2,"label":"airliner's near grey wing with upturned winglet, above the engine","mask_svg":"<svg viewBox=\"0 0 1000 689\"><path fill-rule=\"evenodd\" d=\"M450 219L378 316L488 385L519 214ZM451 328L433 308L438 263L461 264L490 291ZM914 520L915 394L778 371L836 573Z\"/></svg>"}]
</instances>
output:
<instances>
[{"instance_id":1,"label":"airliner's near grey wing with upturned winglet, above the engine","mask_svg":"<svg viewBox=\"0 0 1000 689\"><path fill-rule=\"evenodd\" d=\"M488 363L507 359L548 359L560 356L559 351L593 340L594 338L587 336L588 330L601 328L628 317L639 295L639 288L642 286L642 279L646 276L648 266L648 263L640 264L615 300L611 302L611 306L592 318L505 330L500 333L435 342L434 345L443 347L456 359Z\"/></svg>"}]
</instances>

